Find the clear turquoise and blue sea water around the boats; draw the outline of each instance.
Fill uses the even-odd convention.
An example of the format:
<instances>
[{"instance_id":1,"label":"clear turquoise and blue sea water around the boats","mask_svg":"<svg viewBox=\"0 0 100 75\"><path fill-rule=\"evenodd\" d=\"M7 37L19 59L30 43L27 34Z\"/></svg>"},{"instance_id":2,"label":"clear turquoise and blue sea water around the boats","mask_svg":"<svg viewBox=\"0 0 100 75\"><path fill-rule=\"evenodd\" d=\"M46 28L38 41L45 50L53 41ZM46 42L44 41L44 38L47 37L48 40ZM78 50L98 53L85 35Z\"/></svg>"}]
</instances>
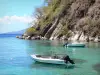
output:
<instances>
[{"instance_id":1,"label":"clear turquoise and blue sea water around the boats","mask_svg":"<svg viewBox=\"0 0 100 75\"><path fill-rule=\"evenodd\" d=\"M0 75L100 75L100 43L86 48L65 48L62 41L0 38ZM68 54L75 66L35 62L31 54Z\"/></svg>"}]
</instances>

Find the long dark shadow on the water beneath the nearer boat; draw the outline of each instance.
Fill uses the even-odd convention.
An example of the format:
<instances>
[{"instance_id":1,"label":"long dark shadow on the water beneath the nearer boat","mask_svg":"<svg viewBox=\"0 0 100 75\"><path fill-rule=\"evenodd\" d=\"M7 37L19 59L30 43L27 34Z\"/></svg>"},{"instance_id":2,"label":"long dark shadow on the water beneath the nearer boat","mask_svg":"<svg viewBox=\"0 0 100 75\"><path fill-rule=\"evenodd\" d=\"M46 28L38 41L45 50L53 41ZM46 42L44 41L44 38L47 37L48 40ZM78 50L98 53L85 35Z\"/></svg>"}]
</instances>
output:
<instances>
[{"instance_id":1,"label":"long dark shadow on the water beneath the nearer boat","mask_svg":"<svg viewBox=\"0 0 100 75\"><path fill-rule=\"evenodd\" d=\"M31 64L32 68L36 69L43 69L43 68L49 68L49 69L74 69L76 66L75 65L57 65L57 64L48 64L48 63L40 63L40 62L35 62Z\"/></svg>"}]
</instances>

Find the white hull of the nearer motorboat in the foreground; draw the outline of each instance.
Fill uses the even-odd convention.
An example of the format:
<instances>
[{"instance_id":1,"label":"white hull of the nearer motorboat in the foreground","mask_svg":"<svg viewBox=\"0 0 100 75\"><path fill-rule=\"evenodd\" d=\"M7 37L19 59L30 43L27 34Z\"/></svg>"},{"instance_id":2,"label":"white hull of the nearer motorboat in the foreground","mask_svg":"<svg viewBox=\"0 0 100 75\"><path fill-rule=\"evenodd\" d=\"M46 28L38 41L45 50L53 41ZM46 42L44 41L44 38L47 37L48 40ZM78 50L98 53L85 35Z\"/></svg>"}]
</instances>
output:
<instances>
[{"instance_id":1,"label":"white hull of the nearer motorboat in the foreground","mask_svg":"<svg viewBox=\"0 0 100 75\"><path fill-rule=\"evenodd\" d=\"M41 57L36 57L36 55L31 55L31 57L41 63L50 63L50 64L65 64L64 60L61 59L52 59L52 58L41 58Z\"/></svg>"}]
</instances>

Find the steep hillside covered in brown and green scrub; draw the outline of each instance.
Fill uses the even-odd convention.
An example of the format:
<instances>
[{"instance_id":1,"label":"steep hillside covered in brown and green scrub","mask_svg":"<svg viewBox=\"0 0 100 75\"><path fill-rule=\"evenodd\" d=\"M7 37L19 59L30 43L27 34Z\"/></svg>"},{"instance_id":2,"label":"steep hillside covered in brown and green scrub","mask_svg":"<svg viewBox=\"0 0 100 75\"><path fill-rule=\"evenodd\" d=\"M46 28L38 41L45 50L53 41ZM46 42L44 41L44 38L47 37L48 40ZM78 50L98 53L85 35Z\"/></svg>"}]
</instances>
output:
<instances>
[{"instance_id":1,"label":"steep hillside covered in brown and green scrub","mask_svg":"<svg viewBox=\"0 0 100 75\"><path fill-rule=\"evenodd\" d=\"M34 32L47 39L91 41L100 36L100 0L45 0L36 17Z\"/></svg>"}]
</instances>

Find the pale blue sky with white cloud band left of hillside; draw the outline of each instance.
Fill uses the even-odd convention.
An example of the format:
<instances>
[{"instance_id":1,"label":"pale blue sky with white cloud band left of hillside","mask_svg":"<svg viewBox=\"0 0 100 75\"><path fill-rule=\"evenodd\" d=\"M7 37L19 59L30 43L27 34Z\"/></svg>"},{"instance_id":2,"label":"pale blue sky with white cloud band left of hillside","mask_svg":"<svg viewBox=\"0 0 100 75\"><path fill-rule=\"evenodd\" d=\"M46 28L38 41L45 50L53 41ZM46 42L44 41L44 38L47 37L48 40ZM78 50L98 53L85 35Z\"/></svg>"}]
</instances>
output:
<instances>
[{"instance_id":1,"label":"pale blue sky with white cloud band left of hillside","mask_svg":"<svg viewBox=\"0 0 100 75\"><path fill-rule=\"evenodd\" d=\"M0 33L26 29L44 0L0 0Z\"/></svg>"}]
</instances>

